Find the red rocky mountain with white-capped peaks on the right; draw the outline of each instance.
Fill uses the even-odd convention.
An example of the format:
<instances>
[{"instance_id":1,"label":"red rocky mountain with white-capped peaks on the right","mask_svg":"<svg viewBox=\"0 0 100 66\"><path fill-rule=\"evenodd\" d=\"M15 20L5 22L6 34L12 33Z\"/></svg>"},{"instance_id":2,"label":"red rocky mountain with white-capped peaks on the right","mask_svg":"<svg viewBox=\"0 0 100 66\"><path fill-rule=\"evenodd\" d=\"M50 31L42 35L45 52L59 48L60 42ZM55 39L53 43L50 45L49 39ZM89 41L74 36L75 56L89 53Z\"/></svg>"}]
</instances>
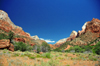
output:
<instances>
[{"instance_id":1,"label":"red rocky mountain with white-capped peaks on the right","mask_svg":"<svg viewBox=\"0 0 100 66\"><path fill-rule=\"evenodd\" d=\"M91 21L86 22L82 26L82 30L76 32L72 31L70 37L68 37L62 43L55 46L59 48L67 48L68 45L95 45L100 40L100 20L93 18ZM68 46L69 47L69 46Z\"/></svg>"}]
</instances>

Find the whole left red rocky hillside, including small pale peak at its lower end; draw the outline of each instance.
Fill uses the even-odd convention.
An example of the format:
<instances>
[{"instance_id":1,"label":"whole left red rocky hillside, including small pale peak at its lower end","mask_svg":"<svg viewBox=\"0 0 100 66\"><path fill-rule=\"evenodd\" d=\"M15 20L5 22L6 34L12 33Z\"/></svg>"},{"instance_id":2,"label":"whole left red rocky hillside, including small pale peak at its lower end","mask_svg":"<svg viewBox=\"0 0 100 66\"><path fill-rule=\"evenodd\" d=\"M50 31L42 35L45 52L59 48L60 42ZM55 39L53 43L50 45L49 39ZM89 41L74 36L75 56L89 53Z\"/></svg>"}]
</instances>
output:
<instances>
[{"instance_id":1,"label":"whole left red rocky hillside, including small pale peak at its lower end","mask_svg":"<svg viewBox=\"0 0 100 66\"><path fill-rule=\"evenodd\" d=\"M14 37L12 39L13 42L23 42L29 45L35 45L35 44L42 44L42 42L45 42L43 40L39 40L38 36L30 36L29 33L23 31L23 29L19 26L16 26L9 18L8 14L4 12L3 10L0 10L0 35L8 35L9 32L14 33ZM4 36L2 36L4 37ZM3 38L7 39L7 38ZM45 42L46 43L46 42ZM11 43L9 43L9 46ZM3 46L1 44L0 46ZM6 44L4 48L6 48Z\"/></svg>"}]
</instances>

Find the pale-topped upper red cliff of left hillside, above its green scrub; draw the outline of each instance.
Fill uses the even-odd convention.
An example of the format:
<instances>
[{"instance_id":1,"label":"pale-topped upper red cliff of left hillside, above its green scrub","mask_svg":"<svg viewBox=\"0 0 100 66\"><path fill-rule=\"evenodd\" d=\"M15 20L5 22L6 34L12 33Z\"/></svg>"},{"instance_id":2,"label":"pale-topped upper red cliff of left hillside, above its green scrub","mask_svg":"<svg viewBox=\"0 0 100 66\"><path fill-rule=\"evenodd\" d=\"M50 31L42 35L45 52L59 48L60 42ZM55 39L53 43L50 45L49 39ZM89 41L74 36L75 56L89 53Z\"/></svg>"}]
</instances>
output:
<instances>
[{"instance_id":1,"label":"pale-topped upper red cliff of left hillside, above its green scrub","mask_svg":"<svg viewBox=\"0 0 100 66\"><path fill-rule=\"evenodd\" d=\"M0 29L5 30L6 32L12 31L16 35L23 35L30 37L27 33L25 33L21 27L16 26L8 17L8 14L2 10L0 10Z\"/></svg>"}]
</instances>

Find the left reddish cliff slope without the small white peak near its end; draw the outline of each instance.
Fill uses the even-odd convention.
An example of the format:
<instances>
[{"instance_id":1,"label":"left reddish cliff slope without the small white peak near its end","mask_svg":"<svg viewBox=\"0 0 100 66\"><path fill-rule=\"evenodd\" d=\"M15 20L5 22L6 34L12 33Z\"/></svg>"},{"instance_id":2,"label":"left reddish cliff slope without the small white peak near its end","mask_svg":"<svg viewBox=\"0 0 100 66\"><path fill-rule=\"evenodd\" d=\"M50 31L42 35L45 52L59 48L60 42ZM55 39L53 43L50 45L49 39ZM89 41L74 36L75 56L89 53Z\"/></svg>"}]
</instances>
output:
<instances>
[{"instance_id":1,"label":"left reddish cliff slope without the small white peak near its end","mask_svg":"<svg viewBox=\"0 0 100 66\"><path fill-rule=\"evenodd\" d=\"M14 33L14 41L22 41L28 44L37 44L36 42L40 43L45 41L36 41L35 39L30 36L29 33L26 33L22 30L21 27L16 26L9 18L8 14L2 10L0 10L0 29L4 30L5 32L12 31Z\"/></svg>"}]
</instances>

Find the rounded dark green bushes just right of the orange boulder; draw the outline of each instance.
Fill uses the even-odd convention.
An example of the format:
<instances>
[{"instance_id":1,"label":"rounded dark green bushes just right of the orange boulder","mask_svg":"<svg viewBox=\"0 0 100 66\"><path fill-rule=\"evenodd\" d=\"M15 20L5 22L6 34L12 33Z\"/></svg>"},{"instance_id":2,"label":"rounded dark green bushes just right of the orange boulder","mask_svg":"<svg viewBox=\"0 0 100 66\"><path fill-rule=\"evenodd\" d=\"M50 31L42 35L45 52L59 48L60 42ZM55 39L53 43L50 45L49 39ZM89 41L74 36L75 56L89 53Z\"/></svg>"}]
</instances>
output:
<instances>
[{"instance_id":1,"label":"rounded dark green bushes just right of the orange boulder","mask_svg":"<svg viewBox=\"0 0 100 66\"><path fill-rule=\"evenodd\" d=\"M14 47L15 51L17 51L17 50L20 50L20 51L30 51L30 50L32 50L32 47L30 45L26 45L23 42L15 42L14 46L15 46Z\"/></svg>"}]
</instances>

